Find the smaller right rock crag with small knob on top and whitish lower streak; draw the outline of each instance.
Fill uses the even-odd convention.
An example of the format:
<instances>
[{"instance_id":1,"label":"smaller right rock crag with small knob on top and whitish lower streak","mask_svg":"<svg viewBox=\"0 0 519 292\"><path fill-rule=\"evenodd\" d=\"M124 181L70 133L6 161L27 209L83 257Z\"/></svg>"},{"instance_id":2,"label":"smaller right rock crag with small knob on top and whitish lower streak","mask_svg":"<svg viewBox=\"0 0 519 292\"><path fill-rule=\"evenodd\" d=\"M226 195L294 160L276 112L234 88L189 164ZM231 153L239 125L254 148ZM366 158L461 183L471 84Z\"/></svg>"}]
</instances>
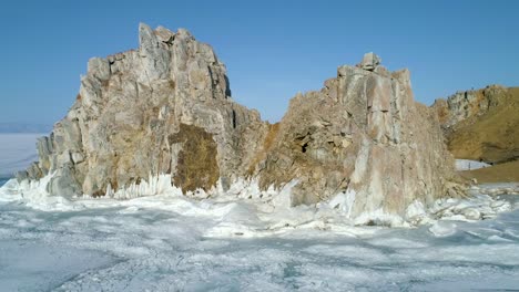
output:
<instances>
[{"instance_id":1,"label":"smaller right rock crag with small knob on top and whitish lower streak","mask_svg":"<svg viewBox=\"0 0 519 292\"><path fill-rule=\"evenodd\" d=\"M414 102L409 72L390 73L372 53L338 67L320 92L294 97L266 156L255 173L264 187L297 178L295 204L355 194L353 216L403 213L454 179L438 118Z\"/></svg>"}]
</instances>

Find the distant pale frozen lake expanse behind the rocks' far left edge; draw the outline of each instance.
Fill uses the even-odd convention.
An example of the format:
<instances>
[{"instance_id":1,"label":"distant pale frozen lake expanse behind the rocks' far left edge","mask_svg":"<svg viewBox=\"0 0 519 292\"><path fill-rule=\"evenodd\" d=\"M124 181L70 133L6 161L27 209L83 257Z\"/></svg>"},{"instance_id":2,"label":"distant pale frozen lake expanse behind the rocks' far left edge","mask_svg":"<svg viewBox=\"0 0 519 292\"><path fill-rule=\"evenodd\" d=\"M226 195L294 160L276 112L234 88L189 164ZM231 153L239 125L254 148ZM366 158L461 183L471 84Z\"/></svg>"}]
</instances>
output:
<instances>
[{"instance_id":1,"label":"distant pale frozen lake expanse behind the rocks' far left edge","mask_svg":"<svg viewBox=\"0 0 519 292\"><path fill-rule=\"evenodd\" d=\"M37 161L37 138L45 134L0 134L0 179Z\"/></svg>"}]
</instances>

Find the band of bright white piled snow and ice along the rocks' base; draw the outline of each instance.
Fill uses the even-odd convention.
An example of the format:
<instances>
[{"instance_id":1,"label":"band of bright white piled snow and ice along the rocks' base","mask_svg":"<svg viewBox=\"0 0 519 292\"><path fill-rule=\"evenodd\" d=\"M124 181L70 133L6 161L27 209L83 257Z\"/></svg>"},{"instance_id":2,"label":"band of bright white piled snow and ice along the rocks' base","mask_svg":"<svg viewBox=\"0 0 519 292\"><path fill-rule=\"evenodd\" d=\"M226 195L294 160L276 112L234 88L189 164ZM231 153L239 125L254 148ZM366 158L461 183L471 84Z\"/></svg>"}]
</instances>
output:
<instances>
[{"instance_id":1,"label":"band of bright white piled snow and ice along the rocks' base","mask_svg":"<svg viewBox=\"0 0 519 292\"><path fill-rule=\"evenodd\" d=\"M480 192L485 188L480 190L475 187L471 194L474 196L469 198L438 199L430 208L414 201L408 206L405 217L387 213L383 209L353 217L355 192L339 192L330 200L313 206L292 207L291 191L297 181L287 184L279 190L271 187L262 191L255 180L237 180L227 191L218 185L207 192L197 189L184 195L180 188L171 185L170 175L150 175L149 180L119 190L109 186L108 195L102 198L83 196L67 199L49 195L47 185L52 175L48 175L38 181L23 180L20 184L12 179L0 188L0 201L20 201L42 211L126 206L132 209L161 209L183 216L214 217L220 218L221 222L208 233L216 237L262 237L293 229L340 231L344 227L352 226L413 227L430 225L438 219L472 221L493 218L497 213L511 209L508 201L482 195ZM519 186L509 186L507 189L519 191Z\"/></svg>"}]
</instances>

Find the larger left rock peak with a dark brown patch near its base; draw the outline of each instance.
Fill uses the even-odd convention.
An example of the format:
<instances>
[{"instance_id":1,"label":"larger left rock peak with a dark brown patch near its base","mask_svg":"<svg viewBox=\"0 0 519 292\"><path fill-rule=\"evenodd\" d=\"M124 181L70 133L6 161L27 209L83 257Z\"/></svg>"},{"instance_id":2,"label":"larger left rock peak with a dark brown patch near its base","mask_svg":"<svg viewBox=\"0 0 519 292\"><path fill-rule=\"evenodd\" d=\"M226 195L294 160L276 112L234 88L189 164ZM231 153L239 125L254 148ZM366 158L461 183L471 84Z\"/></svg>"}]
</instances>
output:
<instances>
[{"instance_id":1,"label":"larger left rock peak with a dark brown patch near its base","mask_svg":"<svg viewBox=\"0 0 519 292\"><path fill-rule=\"evenodd\" d=\"M208 189L243 173L267 126L231 100L213 49L185 30L145 24L139 41L136 51L91 59L74 105L39 140L40 163L28 173L55 171L51 194L101 196L150 174Z\"/></svg>"}]
</instances>

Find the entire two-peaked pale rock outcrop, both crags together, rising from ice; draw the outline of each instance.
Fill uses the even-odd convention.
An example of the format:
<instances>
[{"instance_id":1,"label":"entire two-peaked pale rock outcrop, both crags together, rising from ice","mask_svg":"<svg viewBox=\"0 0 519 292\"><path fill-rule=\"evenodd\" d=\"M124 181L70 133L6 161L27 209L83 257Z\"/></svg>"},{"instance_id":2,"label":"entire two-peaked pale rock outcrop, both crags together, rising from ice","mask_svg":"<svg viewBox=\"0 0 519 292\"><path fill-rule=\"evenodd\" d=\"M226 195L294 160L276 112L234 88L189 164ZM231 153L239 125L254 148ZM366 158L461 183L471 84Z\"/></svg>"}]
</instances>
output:
<instances>
[{"instance_id":1,"label":"entire two-peaked pale rock outcrop, both crags together, rising from ice","mask_svg":"<svg viewBox=\"0 0 519 292\"><path fill-rule=\"evenodd\" d=\"M293 181L293 205L344 192L352 215L456 195L438 118L414 102L408 71L366 54L269 125L231 100L211 46L185 30L139 30L139 50L89 61L74 105L19 180L53 174L48 189L60 196L102 196L159 174L186 192L238 178L263 189Z\"/></svg>"}]
</instances>

